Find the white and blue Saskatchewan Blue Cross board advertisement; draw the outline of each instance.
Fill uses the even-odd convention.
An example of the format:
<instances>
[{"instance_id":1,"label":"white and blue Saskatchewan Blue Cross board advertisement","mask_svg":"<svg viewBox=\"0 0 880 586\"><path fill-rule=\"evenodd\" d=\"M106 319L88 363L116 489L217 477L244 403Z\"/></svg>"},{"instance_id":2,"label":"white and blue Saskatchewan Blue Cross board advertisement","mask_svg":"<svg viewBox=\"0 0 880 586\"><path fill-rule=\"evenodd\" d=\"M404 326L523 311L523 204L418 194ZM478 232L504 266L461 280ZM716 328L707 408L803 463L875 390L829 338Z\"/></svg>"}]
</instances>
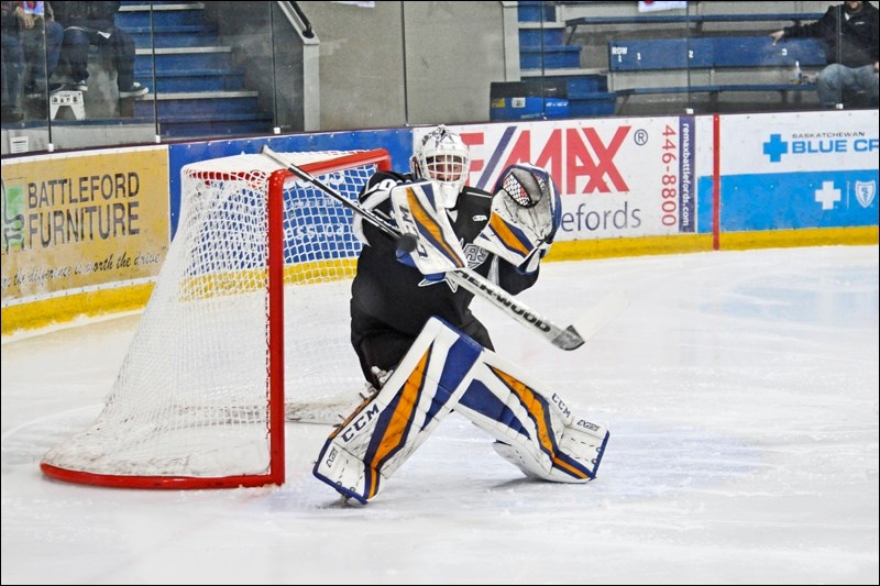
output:
<instances>
[{"instance_id":1,"label":"white and blue Saskatchewan Blue Cross board advertisement","mask_svg":"<svg viewBox=\"0 0 880 586\"><path fill-rule=\"evenodd\" d=\"M727 115L721 141L722 231L877 225L877 110Z\"/></svg>"}]
</instances>

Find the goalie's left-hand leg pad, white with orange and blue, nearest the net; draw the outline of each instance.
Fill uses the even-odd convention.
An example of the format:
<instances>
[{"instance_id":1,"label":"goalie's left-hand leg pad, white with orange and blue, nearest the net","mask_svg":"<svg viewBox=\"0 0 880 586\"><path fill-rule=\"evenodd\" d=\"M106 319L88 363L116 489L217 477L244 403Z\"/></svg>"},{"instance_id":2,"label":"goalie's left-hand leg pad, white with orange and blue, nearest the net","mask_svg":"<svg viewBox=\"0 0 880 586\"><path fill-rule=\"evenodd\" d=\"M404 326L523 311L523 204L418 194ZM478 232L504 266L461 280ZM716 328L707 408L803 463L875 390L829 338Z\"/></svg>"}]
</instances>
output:
<instances>
[{"instance_id":1,"label":"goalie's left-hand leg pad, white with orange and blue, nearest the net","mask_svg":"<svg viewBox=\"0 0 880 586\"><path fill-rule=\"evenodd\" d=\"M468 388L483 346L431 318L382 390L330 434L314 474L362 504L430 435Z\"/></svg>"}]
</instances>

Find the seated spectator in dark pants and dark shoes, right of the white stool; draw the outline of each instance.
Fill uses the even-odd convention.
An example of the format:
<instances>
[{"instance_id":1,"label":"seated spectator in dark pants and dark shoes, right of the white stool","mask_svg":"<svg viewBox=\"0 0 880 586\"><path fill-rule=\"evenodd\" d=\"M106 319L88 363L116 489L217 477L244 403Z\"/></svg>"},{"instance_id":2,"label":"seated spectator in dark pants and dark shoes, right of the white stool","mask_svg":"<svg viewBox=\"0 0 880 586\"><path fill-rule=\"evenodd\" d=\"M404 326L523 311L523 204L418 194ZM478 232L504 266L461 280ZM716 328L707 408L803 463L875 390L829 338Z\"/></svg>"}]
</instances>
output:
<instances>
[{"instance_id":1,"label":"seated spectator in dark pants and dark shoes, right of the white stool","mask_svg":"<svg viewBox=\"0 0 880 586\"><path fill-rule=\"evenodd\" d=\"M55 19L64 26L64 58L70 65L68 89L87 91L89 45L110 47L120 98L138 98L150 90L134 80L134 41L116 25L121 2L55 1Z\"/></svg>"}]
</instances>

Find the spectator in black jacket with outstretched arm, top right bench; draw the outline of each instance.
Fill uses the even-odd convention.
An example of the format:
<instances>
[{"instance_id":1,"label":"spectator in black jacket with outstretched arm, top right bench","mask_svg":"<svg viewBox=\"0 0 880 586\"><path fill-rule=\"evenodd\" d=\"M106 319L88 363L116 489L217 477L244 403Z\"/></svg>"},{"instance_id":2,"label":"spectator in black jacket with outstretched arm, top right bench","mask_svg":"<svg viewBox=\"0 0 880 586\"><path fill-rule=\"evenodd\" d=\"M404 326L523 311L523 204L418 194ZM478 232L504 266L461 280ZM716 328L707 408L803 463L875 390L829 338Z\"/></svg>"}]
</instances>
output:
<instances>
[{"instance_id":1,"label":"spectator in black jacket with outstretched arm, top right bench","mask_svg":"<svg viewBox=\"0 0 880 586\"><path fill-rule=\"evenodd\" d=\"M771 33L773 44L785 37L821 38L828 65L816 78L823 107L835 108L849 96L865 93L877 106L878 10L870 2L844 2L829 7L816 22L795 24Z\"/></svg>"}]
</instances>

